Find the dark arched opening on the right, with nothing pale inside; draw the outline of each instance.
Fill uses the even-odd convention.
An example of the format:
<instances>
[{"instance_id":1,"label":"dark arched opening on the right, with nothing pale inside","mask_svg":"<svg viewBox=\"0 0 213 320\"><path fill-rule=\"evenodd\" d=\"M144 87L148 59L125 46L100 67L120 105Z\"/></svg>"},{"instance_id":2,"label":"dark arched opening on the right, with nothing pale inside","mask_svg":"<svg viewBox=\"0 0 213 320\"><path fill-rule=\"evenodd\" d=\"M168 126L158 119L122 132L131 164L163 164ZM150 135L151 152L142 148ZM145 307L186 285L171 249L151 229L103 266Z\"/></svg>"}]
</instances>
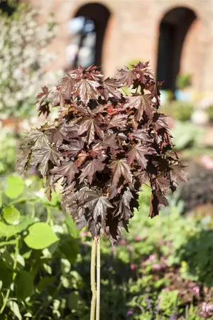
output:
<instances>
[{"instance_id":1,"label":"dark arched opening on the right, with nothing pale inside","mask_svg":"<svg viewBox=\"0 0 213 320\"><path fill-rule=\"evenodd\" d=\"M157 77L165 81L165 90L175 90L182 46L195 18L195 12L191 9L178 7L168 11L160 22Z\"/></svg>"}]
</instances>

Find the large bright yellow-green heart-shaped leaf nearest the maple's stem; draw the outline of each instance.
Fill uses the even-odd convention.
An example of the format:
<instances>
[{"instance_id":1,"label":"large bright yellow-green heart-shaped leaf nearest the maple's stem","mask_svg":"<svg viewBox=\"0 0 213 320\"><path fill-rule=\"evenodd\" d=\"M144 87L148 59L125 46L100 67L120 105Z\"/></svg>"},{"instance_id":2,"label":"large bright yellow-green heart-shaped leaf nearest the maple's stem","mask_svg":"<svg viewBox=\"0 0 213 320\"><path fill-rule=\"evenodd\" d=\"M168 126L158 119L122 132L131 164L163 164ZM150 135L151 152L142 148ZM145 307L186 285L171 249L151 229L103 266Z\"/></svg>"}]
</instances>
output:
<instances>
[{"instance_id":1,"label":"large bright yellow-green heart-shaped leaf nearest the maple's stem","mask_svg":"<svg viewBox=\"0 0 213 320\"><path fill-rule=\"evenodd\" d=\"M49 247L49 245L59 240L48 223L35 223L31 225L28 231L29 233L24 238L24 241L28 247L35 250Z\"/></svg>"}]
</instances>

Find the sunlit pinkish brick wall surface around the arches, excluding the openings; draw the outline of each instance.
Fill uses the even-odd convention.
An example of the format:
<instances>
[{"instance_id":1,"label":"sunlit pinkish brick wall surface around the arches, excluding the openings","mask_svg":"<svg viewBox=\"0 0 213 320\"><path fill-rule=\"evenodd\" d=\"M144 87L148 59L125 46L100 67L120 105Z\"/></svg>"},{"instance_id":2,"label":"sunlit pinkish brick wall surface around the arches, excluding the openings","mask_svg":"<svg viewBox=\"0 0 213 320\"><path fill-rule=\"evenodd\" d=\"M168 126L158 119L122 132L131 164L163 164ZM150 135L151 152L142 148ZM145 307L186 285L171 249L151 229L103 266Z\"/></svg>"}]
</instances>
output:
<instances>
[{"instance_id":1,"label":"sunlit pinkish brick wall surface around the arches, excluding the openings","mask_svg":"<svg viewBox=\"0 0 213 320\"><path fill-rule=\"evenodd\" d=\"M74 17L85 0L29 0L41 9L40 19L47 20L54 12L58 23L57 36L50 50L60 58L53 68L65 66L65 49L70 43L67 21ZM102 65L113 75L116 68L136 58L150 60L156 70L158 60L159 26L165 14L186 7L197 19L190 26L182 47L180 72L193 74L193 88L213 91L213 0L99 0L111 12L104 36Z\"/></svg>"}]
</instances>

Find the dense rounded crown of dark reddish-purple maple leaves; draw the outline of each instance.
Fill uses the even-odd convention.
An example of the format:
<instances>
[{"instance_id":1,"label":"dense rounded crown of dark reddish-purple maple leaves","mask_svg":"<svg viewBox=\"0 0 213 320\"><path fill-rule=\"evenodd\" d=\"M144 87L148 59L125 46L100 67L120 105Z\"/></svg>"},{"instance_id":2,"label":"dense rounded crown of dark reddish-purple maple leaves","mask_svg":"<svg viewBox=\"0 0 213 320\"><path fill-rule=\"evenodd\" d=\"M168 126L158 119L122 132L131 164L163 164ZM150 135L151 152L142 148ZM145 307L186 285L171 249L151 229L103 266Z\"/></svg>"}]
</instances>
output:
<instances>
[{"instance_id":1,"label":"dense rounded crown of dark reddish-purple maple leaves","mask_svg":"<svg viewBox=\"0 0 213 320\"><path fill-rule=\"evenodd\" d=\"M38 112L48 115L50 106L58 107L58 119L29 132L18 161L20 171L32 164L47 178L49 198L60 181L62 206L77 228L89 225L92 237L102 231L114 242L121 228L127 230L143 183L152 189L152 218L160 205L167 206L165 193L175 191L185 173L166 117L158 112L161 83L148 63L102 78L94 66L79 67L55 90L43 87Z\"/></svg>"}]
</instances>

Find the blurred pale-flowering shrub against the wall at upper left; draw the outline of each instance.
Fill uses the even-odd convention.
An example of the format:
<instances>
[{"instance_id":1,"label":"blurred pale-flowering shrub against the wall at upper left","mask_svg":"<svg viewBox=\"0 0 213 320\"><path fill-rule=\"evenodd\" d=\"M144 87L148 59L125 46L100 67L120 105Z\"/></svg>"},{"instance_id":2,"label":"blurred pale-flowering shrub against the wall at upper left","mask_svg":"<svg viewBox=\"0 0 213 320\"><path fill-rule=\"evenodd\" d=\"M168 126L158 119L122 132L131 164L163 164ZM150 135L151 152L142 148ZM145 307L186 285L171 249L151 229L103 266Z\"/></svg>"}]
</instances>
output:
<instances>
[{"instance_id":1,"label":"blurred pale-flowering shrub against the wall at upper left","mask_svg":"<svg viewBox=\"0 0 213 320\"><path fill-rule=\"evenodd\" d=\"M8 16L0 11L0 119L33 114L41 85L53 85L56 74L45 71L55 56L47 52L53 17L38 25L37 12L18 4Z\"/></svg>"}]
</instances>

